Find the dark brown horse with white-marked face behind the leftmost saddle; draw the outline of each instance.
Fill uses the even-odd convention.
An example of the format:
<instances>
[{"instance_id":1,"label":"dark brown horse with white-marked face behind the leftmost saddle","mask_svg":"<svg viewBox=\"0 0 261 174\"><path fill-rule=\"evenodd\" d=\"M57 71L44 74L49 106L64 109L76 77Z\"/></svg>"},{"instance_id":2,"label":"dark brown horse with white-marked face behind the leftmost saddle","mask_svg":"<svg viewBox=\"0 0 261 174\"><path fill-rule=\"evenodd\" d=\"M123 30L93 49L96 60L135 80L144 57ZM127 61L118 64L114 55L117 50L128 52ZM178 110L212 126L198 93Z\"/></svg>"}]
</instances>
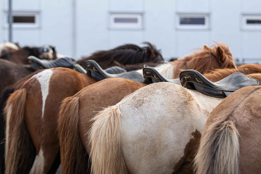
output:
<instances>
[{"instance_id":1,"label":"dark brown horse with white-marked face behind the leftmost saddle","mask_svg":"<svg viewBox=\"0 0 261 174\"><path fill-rule=\"evenodd\" d=\"M45 59L56 59L55 47L46 46L43 47L22 47L12 52L2 52L0 55L1 59L10 60L12 62L27 65L30 64L27 57L33 55L38 58Z\"/></svg>"}]
</instances>

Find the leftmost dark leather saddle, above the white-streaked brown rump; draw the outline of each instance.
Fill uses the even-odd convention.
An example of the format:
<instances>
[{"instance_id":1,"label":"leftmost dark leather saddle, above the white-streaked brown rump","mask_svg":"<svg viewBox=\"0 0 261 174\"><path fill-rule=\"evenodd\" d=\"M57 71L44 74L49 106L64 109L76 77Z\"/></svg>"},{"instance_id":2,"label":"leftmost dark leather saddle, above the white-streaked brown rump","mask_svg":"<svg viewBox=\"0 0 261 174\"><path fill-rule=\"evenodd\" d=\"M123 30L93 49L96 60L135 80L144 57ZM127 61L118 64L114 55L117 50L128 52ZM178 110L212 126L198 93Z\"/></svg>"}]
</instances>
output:
<instances>
[{"instance_id":1,"label":"leftmost dark leather saddle, above the white-streaked brown rump","mask_svg":"<svg viewBox=\"0 0 261 174\"><path fill-rule=\"evenodd\" d=\"M46 60L46 59L38 59L35 56L29 56L29 61L31 61L31 65L33 69L43 69L43 68L56 68L56 67L65 67L71 68L75 64L75 59L71 57L63 57L55 60Z\"/></svg>"}]
</instances>

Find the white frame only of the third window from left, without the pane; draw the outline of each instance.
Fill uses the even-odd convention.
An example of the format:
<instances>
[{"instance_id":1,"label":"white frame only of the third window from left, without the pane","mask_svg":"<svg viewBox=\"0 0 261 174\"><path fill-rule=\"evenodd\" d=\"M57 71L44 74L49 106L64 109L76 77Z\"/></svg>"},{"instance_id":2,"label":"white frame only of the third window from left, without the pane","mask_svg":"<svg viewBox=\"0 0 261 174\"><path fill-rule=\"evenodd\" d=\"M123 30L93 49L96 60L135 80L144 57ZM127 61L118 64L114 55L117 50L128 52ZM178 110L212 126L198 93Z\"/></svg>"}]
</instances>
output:
<instances>
[{"instance_id":1,"label":"white frame only of the third window from left, without the pane","mask_svg":"<svg viewBox=\"0 0 261 174\"><path fill-rule=\"evenodd\" d=\"M205 24L180 24L181 18L204 18ZM210 29L210 15L208 13L205 14L197 14L197 13L177 13L176 18L176 26L177 29L191 29L191 30L206 30Z\"/></svg>"}]
</instances>

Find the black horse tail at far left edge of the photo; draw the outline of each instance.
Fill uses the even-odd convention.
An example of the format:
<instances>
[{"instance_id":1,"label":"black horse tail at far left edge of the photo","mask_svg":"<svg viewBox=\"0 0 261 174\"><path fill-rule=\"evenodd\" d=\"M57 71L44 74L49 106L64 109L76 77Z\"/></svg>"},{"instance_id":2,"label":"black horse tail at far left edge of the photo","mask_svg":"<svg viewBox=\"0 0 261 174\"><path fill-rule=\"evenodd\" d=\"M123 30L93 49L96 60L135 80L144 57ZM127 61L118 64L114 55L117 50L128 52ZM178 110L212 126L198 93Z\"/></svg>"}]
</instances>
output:
<instances>
[{"instance_id":1,"label":"black horse tail at far left edge of the photo","mask_svg":"<svg viewBox=\"0 0 261 174\"><path fill-rule=\"evenodd\" d=\"M2 91L0 95L0 173L5 173L5 127L6 122L4 120L4 107L8 97L14 92L13 86L8 86Z\"/></svg>"}]
</instances>

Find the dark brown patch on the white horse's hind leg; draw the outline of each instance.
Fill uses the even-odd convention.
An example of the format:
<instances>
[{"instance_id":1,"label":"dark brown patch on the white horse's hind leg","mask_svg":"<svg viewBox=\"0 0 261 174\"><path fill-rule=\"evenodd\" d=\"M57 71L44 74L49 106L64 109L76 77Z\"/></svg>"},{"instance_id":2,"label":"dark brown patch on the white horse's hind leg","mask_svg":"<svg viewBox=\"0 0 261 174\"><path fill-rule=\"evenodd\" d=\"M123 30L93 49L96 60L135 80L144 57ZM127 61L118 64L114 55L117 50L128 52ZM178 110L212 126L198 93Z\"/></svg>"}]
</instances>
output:
<instances>
[{"instance_id":1,"label":"dark brown patch on the white horse's hind leg","mask_svg":"<svg viewBox=\"0 0 261 174\"><path fill-rule=\"evenodd\" d=\"M195 154L199 147L199 141L201 138L201 133L196 129L195 132L191 134L193 138L190 139L188 144L184 149L184 156L179 160L179 162L174 166L174 173L193 173L192 161L194 160Z\"/></svg>"}]
</instances>

